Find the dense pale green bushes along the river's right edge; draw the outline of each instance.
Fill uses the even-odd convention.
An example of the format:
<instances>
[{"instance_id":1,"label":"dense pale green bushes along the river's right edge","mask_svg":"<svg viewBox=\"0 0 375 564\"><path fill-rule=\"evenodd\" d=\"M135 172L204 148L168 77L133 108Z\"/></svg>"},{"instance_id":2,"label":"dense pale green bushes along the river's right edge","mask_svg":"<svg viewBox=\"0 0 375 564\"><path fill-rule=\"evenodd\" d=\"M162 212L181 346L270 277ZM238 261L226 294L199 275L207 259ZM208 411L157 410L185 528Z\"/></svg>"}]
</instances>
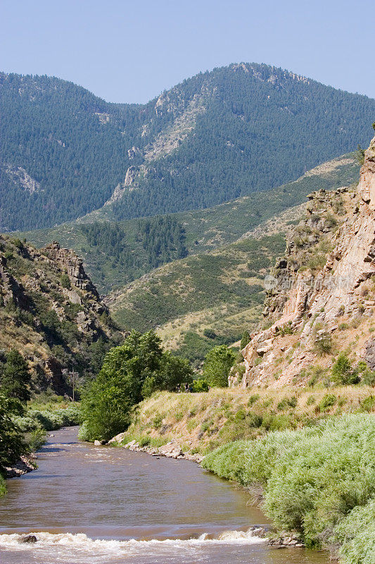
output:
<instances>
[{"instance_id":1,"label":"dense pale green bushes along the river's right edge","mask_svg":"<svg viewBox=\"0 0 375 564\"><path fill-rule=\"evenodd\" d=\"M228 443L202 465L248 487L279 531L343 564L374 564L374 453L375 417L350 414Z\"/></svg>"}]
</instances>

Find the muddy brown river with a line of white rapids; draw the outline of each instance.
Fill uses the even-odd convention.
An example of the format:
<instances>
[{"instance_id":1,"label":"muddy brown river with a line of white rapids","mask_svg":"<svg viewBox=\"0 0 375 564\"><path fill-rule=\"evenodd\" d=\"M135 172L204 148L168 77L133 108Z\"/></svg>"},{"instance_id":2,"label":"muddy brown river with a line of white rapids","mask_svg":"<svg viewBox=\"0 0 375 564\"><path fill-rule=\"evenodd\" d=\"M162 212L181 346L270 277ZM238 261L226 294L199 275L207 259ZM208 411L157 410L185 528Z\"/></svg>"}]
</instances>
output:
<instances>
[{"instance_id":1,"label":"muddy brown river with a line of white rapids","mask_svg":"<svg viewBox=\"0 0 375 564\"><path fill-rule=\"evenodd\" d=\"M246 491L188 460L77 441L54 431L38 470L0 500L1 564L326 564L324 553L275 550ZM20 538L34 533L35 544Z\"/></svg>"}]
</instances>

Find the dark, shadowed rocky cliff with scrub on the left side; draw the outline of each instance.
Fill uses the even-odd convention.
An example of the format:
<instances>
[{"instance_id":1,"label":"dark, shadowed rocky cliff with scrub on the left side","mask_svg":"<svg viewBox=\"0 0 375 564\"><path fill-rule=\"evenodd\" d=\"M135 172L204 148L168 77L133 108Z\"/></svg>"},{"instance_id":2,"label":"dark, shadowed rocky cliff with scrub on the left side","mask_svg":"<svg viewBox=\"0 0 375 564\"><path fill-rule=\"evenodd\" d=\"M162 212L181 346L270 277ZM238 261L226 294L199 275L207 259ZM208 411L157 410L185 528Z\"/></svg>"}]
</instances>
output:
<instances>
[{"instance_id":1,"label":"dark, shadowed rocky cliff with scrub on the left side","mask_svg":"<svg viewBox=\"0 0 375 564\"><path fill-rule=\"evenodd\" d=\"M36 390L69 392L63 370L91 376L121 335L74 251L0 235L0 354L27 359Z\"/></svg>"}]
</instances>

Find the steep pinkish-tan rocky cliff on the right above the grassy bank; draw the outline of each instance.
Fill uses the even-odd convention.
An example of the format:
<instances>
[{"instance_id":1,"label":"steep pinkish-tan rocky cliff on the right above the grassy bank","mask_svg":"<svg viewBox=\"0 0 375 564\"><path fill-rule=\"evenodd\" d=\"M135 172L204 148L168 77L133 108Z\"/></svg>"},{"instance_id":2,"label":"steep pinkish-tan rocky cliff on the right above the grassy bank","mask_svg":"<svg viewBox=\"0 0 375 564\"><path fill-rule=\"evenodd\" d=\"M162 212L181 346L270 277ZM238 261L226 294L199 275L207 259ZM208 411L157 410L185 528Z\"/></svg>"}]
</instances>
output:
<instances>
[{"instance_id":1,"label":"steep pinkish-tan rocky cliff on the right above the grassy bank","mask_svg":"<svg viewBox=\"0 0 375 564\"><path fill-rule=\"evenodd\" d=\"M304 385L339 351L375 367L375 137L357 186L309 196L265 283L265 329L250 336L229 385Z\"/></svg>"}]
</instances>

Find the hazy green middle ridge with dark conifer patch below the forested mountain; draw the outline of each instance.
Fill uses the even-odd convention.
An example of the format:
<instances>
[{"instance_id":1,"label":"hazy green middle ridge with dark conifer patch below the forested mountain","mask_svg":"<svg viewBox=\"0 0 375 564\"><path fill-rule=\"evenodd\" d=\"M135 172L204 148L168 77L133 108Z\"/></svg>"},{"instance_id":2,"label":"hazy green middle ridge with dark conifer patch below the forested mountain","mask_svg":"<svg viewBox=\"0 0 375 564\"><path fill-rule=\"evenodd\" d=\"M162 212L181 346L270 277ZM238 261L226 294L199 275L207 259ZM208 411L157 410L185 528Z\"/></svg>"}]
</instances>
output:
<instances>
[{"instance_id":1,"label":"hazy green middle ridge with dark conifer patch below the forested mountain","mask_svg":"<svg viewBox=\"0 0 375 564\"><path fill-rule=\"evenodd\" d=\"M74 249L83 257L98 290L107 294L186 254L201 255L234 243L273 216L305 202L313 190L352 184L359 170L353 155L346 154L292 183L209 209L110 222L106 215L93 213L55 228L18 233L18 237L37 247L56 240Z\"/></svg>"}]
</instances>

